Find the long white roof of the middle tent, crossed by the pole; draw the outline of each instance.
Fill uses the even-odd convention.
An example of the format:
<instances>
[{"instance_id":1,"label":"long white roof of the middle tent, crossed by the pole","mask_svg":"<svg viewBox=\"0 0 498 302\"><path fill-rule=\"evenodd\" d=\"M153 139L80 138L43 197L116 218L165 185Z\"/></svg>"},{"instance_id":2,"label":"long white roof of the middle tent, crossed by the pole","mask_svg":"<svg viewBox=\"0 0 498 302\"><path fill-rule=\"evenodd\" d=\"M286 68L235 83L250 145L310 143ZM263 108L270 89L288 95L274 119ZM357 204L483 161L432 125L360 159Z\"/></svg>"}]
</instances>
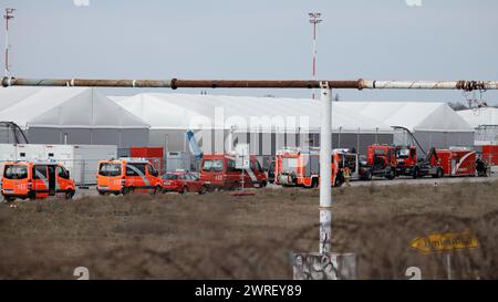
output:
<instances>
[{"instance_id":1,"label":"long white roof of the middle tent, crossed by the pole","mask_svg":"<svg viewBox=\"0 0 498 302\"><path fill-rule=\"evenodd\" d=\"M211 128L258 127L263 131L297 131L309 123L320 128L320 102L299 98L247 97L144 93L131 97L111 97L117 104L147 121L152 128L196 128L198 122ZM333 129L347 132L391 131L382 122L357 112L334 106ZM218 118L222 116L222 118ZM261 126L261 121L270 121ZM219 122L221 121L221 122ZM270 125L268 125L270 124Z\"/></svg>"}]
</instances>

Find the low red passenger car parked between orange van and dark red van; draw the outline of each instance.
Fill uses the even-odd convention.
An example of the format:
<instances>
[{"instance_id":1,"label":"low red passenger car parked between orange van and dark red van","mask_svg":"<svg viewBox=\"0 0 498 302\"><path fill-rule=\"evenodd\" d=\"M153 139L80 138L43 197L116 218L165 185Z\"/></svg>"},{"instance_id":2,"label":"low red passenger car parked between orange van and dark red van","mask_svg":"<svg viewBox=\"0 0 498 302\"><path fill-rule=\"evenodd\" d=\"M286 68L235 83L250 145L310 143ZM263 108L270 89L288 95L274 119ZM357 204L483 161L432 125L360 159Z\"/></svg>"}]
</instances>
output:
<instances>
[{"instance_id":1,"label":"low red passenger car parked between orange van and dark red van","mask_svg":"<svg viewBox=\"0 0 498 302\"><path fill-rule=\"evenodd\" d=\"M194 173L174 171L163 176L163 192L175 191L179 194L207 192L207 187L199 176Z\"/></svg>"}]
</instances>

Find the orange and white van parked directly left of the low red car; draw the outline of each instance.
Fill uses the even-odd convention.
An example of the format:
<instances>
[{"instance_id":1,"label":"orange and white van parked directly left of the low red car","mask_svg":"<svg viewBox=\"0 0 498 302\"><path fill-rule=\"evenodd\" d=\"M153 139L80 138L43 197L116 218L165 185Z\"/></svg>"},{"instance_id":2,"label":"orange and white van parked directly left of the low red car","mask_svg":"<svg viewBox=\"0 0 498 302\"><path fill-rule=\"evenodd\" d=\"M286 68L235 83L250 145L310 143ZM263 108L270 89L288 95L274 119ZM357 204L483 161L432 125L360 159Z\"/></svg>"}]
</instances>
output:
<instances>
[{"instance_id":1,"label":"orange and white van parked directly left of the low red car","mask_svg":"<svg viewBox=\"0 0 498 302\"><path fill-rule=\"evenodd\" d=\"M100 195L163 191L159 173L148 160L142 158L101 160L96 178Z\"/></svg>"}]
</instances>

